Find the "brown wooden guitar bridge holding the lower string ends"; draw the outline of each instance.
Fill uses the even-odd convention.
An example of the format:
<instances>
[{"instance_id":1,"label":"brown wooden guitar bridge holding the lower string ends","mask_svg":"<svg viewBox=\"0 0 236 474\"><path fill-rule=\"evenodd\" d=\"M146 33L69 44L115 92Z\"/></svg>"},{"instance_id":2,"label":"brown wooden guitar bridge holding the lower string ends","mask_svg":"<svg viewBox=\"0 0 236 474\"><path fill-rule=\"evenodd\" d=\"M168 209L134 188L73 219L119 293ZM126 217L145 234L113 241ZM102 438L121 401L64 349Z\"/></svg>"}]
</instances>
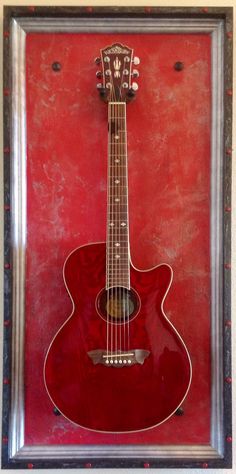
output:
<instances>
[{"instance_id":1,"label":"brown wooden guitar bridge holding the lower string ends","mask_svg":"<svg viewBox=\"0 0 236 474\"><path fill-rule=\"evenodd\" d=\"M134 364L143 364L150 352L144 349L131 351L107 352L103 349L89 351L88 356L94 365L103 364L107 367L130 367Z\"/></svg>"}]
</instances>

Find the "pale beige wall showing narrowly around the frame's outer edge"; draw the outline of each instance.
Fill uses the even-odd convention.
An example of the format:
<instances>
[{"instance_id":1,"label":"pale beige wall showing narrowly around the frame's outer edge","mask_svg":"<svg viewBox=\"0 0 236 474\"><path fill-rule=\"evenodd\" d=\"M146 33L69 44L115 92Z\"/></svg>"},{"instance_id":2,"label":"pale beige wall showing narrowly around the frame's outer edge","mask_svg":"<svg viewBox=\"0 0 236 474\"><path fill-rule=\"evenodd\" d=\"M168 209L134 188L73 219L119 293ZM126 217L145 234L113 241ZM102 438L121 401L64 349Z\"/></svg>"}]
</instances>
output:
<instances>
[{"instance_id":1,"label":"pale beige wall showing narrowly around the frame's outer edge","mask_svg":"<svg viewBox=\"0 0 236 474\"><path fill-rule=\"evenodd\" d=\"M40 0L25 0L25 1L17 1L17 0L14 0L14 1L3 1L3 0L0 0L0 21L1 21L1 38L2 38L2 18L3 18L3 11L2 11L2 6L3 4L5 5L61 5L61 6L68 6L68 3L66 0L62 0L62 1L48 1L48 0L44 0L43 2L41 2ZM131 6L138 6L138 5L148 5L148 6L151 6L151 5L156 5L156 6L197 6L199 4L199 6L234 6L236 7L236 0L228 0L227 2L226 1L219 1L219 0L215 0L215 1L199 1L199 0L190 0L190 1L184 1L182 0L181 2L177 1L177 0L172 0L171 3L169 4L168 0L148 0L148 1L145 1L145 0L83 0L82 2L80 2L79 0L76 1L76 0L70 0L69 1L69 5L73 5L73 6L79 6L79 5L120 5L120 6L127 6L127 5L131 5ZM236 51L236 44L235 44L235 38L234 38L234 51ZM235 73L235 65L234 65L234 73ZM0 68L1 68L1 78L2 78L2 41L1 41L1 58L0 58ZM235 77L235 74L234 74L234 77ZM236 94L235 94L236 96ZM1 87L1 95L0 95L0 100L1 100L1 104L2 104L2 87ZM235 110L235 97L234 97L234 110ZM236 126L235 126L235 121L234 121L234 124L233 124L233 144L235 144L235 139L236 139ZM235 145L234 145L235 146ZM1 155L2 155L2 128L1 128L1 131L0 131L0 150L1 150ZM235 215L235 204L236 204L236 188L235 188L235 182L236 182L236 152L234 151L233 152L233 157L232 157L232 162L233 162L233 186L232 186L232 189L233 189L233 195L232 195L232 200L233 200L233 215L232 215L232 218L233 218L233 234L234 234L234 238L232 240L232 266L233 266L233 269L232 269L232 311L233 311L233 314L236 312L236 269L235 269L235 262L236 262L236 215ZM0 166L0 185L1 185L1 189L2 189L2 182L3 182L3 173L2 173L2 161L1 161L1 166ZM1 194L1 199L2 199L2 194ZM3 206L1 206L1 209L3 208ZM2 216L2 213L1 213L1 217L0 217L0 226L1 226L1 229L2 229L2 223L3 223L3 216ZM1 232L1 243L2 243L2 232ZM0 246L0 248L2 249L2 245ZM0 254L0 258L1 258L1 268L3 268L3 253L1 251L1 254ZM0 298L1 298L1 303L2 303L2 276L0 277L1 278L1 281L0 281ZM2 315L2 311L1 311L1 315ZM2 324L0 324L0 327L2 327ZM2 341L2 339L1 339ZM0 342L1 342L0 341ZM235 354L236 354L236 351L235 351L235 348L234 348L234 360L235 360ZM235 375L235 371L233 373L233 380L234 380L234 375ZM2 377L0 377L0 379L2 379ZM233 393L235 393L235 390L233 391ZM234 417L235 418L235 417ZM235 424L235 423L234 423ZM233 437L234 438L234 437ZM235 452L235 450L234 450ZM236 453L235 453L235 457L236 457ZM78 471L77 470L72 470L72 471ZM102 469L97 469L97 470L93 470L93 471L96 471L96 472L103 472ZM118 471L118 469L116 470ZM124 471L127 471L128 470L125 470L123 469L122 470L123 472ZM187 470L184 470L187 472ZM234 469L233 469L233 472L236 472L236 462L234 463ZM4 472L4 471L3 471ZM18 471L18 472L21 472L21 471ZM22 470L22 472L24 472ZM66 470L65 470L66 472ZM68 471L67 471L68 472ZM110 474L111 472L114 472L114 470L106 470L105 473L106 474ZM131 470L129 470L129 472L131 472ZM135 470L133 470L132 472L135 472ZM138 471L137 471L138 472ZM140 471L139 471L140 472ZM157 472L157 470L153 470L152 471L153 473L154 472ZM178 473L180 472L179 470L175 470L175 469L166 469L164 470L164 472L173 472L173 473ZM202 470L197 470L197 469L193 469L191 470L191 473L192 474L197 474L197 473L200 473L202 472ZM213 470L213 469L210 469L208 472L215 472L215 473L220 473L221 470ZM224 473L227 473L227 472L232 472L230 470L224 470Z\"/></svg>"}]
</instances>

